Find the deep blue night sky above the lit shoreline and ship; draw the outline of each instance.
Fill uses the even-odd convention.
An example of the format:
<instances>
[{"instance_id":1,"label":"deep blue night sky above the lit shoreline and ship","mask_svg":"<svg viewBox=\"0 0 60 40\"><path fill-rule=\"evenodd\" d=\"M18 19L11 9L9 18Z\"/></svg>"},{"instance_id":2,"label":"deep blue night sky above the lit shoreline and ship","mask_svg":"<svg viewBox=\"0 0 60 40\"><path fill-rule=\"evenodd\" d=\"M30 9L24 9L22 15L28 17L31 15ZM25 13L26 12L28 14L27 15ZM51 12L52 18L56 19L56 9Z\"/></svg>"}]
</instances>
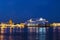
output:
<instances>
[{"instance_id":1,"label":"deep blue night sky above the lit shoreline and ship","mask_svg":"<svg viewBox=\"0 0 60 40\"><path fill-rule=\"evenodd\" d=\"M0 0L0 22L11 18L19 23L40 17L60 22L60 0Z\"/></svg>"}]
</instances>

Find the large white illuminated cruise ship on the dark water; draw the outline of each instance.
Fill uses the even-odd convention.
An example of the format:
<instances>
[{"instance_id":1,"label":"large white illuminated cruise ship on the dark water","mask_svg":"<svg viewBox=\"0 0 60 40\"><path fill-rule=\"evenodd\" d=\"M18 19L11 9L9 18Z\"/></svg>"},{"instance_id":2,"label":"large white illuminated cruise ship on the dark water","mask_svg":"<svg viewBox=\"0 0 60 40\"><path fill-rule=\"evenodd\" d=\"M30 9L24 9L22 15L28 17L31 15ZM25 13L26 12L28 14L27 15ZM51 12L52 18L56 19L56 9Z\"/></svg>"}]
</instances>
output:
<instances>
[{"instance_id":1,"label":"large white illuminated cruise ship on the dark water","mask_svg":"<svg viewBox=\"0 0 60 40\"><path fill-rule=\"evenodd\" d=\"M43 18L39 18L39 19L36 19L36 20L30 19L27 22L25 22L25 24L29 27L45 26L46 24L48 24L48 21L46 19L43 19Z\"/></svg>"}]
</instances>

